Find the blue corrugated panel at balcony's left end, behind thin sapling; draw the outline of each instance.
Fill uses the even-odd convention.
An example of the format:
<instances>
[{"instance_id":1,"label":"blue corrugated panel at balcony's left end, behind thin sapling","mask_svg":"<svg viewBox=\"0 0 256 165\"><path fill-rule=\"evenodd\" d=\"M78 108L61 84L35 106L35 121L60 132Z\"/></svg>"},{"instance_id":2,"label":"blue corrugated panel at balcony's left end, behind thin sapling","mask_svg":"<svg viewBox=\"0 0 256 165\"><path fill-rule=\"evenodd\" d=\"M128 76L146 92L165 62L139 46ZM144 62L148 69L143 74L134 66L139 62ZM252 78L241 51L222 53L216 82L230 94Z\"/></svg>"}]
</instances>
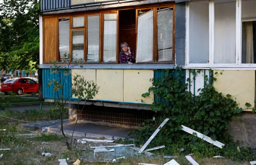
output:
<instances>
[{"instance_id":1,"label":"blue corrugated panel at balcony's left end, behind thin sapling","mask_svg":"<svg viewBox=\"0 0 256 165\"><path fill-rule=\"evenodd\" d=\"M60 76L59 76L60 75ZM68 74L67 76L64 75L64 69L60 70L59 73L51 73L50 69L43 69L43 97L44 98L58 98L62 94L62 91L60 90L58 93L53 91L53 85L48 85L49 81L54 79L56 81L61 80L62 85L63 85L63 96L64 98L72 98L72 92L71 92L71 87L72 87L72 76L71 74Z\"/></svg>"}]
</instances>

